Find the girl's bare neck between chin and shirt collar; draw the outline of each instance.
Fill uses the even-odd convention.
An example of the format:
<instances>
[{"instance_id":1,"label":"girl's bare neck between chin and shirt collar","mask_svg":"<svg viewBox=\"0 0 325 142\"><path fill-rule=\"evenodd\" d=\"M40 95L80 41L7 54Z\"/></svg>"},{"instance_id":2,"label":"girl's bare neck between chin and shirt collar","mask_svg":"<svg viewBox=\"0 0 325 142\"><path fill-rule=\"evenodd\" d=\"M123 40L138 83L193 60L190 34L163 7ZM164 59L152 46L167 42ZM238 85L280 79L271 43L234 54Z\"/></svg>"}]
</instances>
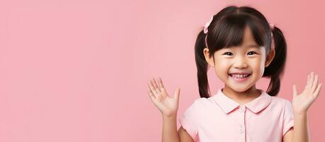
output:
<instances>
[{"instance_id":1,"label":"girl's bare neck between chin and shirt collar","mask_svg":"<svg viewBox=\"0 0 325 142\"><path fill-rule=\"evenodd\" d=\"M236 90L231 89L226 84L222 92L230 99L238 102L239 104L244 104L246 102L250 102L251 100L260 97L261 92L256 89L255 84L247 89L244 92L236 92Z\"/></svg>"}]
</instances>

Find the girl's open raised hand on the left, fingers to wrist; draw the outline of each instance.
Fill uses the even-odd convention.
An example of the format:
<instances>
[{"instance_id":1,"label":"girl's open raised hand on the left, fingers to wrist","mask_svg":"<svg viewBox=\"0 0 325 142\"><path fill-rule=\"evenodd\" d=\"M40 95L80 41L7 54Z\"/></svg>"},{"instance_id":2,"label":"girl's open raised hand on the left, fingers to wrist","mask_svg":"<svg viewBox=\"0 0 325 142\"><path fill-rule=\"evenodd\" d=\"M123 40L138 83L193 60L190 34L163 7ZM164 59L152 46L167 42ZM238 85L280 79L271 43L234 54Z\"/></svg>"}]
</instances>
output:
<instances>
[{"instance_id":1,"label":"girl's open raised hand on the left, fingers to wrist","mask_svg":"<svg viewBox=\"0 0 325 142\"><path fill-rule=\"evenodd\" d=\"M177 88L174 92L174 97L170 97L163 85L163 81L158 80L158 84L155 79L148 80L148 94L153 101L153 104L160 110L163 116L176 116L178 109L178 102L180 98L180 88Z\"/></svg>"}]
</instances>

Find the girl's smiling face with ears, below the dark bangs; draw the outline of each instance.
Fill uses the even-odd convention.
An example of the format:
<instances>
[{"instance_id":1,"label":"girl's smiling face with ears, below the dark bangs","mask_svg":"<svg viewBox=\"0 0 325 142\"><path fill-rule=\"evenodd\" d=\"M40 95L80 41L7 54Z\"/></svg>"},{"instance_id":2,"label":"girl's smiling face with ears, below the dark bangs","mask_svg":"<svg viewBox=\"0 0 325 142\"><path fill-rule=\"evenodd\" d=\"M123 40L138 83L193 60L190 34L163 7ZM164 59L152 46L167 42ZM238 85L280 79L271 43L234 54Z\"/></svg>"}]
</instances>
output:
<instances>
[{"instance_id":1,"label":"girl's smiling face with ears, below the dark bangs","mask_svg":"<svg viewBox=\"0 0 325 142\"><path fill-rule=\"evenodd\" d=\"M241 46L223 48L214 53L214 58L209 58L209 49L204 49L206 61L214 67L216 75L236 92L245 92L250 87L255 87L267 67L274 58L275 51L272 48L265 55L265 47L259 47L246 27ZM266 60L268 59L268 60Z\"/></svg>"}]
</instances>

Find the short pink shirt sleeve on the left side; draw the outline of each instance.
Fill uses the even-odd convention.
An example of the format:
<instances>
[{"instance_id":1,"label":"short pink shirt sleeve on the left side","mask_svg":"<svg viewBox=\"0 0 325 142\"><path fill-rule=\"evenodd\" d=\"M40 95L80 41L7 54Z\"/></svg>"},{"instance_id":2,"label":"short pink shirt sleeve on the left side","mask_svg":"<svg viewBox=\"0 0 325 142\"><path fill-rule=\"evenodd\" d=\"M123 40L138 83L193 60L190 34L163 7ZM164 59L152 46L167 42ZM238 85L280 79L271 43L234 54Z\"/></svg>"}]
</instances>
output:
<instances>
[{"instance_id":1,"label":"short pink shirt sleeve on the left side","mask_svg":"<svg viewBox=\"0 0 325 142\"><path fill-rule=\"evenodd\" d=\"M180 124L189 133L194 141L197 141L197 116L198 114L197 100L189 106L182 116L180 116Z\"/></svg>"}]
</instances>

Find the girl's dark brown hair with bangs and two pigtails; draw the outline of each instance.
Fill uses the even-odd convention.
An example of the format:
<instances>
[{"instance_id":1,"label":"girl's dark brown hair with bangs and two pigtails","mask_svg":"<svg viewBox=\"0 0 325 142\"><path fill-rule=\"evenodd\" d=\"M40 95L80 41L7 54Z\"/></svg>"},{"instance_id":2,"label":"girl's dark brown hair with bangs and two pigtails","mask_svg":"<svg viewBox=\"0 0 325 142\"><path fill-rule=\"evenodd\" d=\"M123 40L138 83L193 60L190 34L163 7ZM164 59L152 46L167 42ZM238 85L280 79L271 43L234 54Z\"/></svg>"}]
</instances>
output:
<instances>
[{"instance_id":1,"label":"girl's dark brown hair with bangs and two pigtails","mask_svg":"<svg viewBox=\"0 0 325 142\"><path fill-rule=\"evenodd\" d=\"M275 57L270 65L265 67L263 77L270 78L266 93L276 96L280 91L280 78L284 72L287 58L287 43L282 31L276 26L271 28L265 16L252 7L227 6L213 16L208 33L204 33L202 29L197 35L194 52L200 97L211 97L206 75L209 64L204 58L204 48L209 47L209 58L211 58L216 50L241 45L246 26L250 28L255 43L265 47L266 55L270 52L273 37Z\"/></svg>"}]
</instances>

